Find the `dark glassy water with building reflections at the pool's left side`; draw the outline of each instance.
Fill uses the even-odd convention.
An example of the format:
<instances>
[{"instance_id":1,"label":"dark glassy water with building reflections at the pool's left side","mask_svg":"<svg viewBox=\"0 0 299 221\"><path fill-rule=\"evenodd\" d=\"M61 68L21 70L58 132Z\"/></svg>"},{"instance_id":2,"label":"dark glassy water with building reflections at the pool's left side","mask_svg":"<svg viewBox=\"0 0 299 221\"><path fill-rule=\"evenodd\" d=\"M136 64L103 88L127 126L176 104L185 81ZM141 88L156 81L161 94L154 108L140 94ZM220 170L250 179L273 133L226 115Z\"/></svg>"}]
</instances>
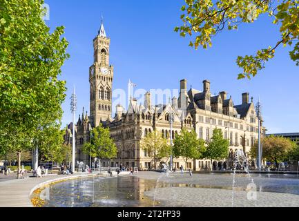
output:
<instances>
[{"instance_id":1,"label":"dark glassy water with building reflections at the pool's left side","mask_svg":"<svg viewBox=\"0 0 299 221\"><path fill-rule=\"evenodd\" d=\"M91 177L50 186L46 207L109 207L152 206L144 191L155 182L137 177Z\"/></svg>"}]
</instances>

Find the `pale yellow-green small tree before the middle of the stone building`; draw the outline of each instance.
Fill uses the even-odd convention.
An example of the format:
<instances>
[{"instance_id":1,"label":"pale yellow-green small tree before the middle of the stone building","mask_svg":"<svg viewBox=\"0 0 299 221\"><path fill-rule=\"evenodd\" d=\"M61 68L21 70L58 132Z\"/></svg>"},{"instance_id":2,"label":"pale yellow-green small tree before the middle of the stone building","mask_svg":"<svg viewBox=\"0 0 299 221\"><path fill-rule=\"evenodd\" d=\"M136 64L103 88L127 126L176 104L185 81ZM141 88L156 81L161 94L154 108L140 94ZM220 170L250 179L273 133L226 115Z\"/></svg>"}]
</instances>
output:
<instances>
[{"instance_id":1,"label":"pale yellow-green small tree before the middle of the stone building","mask_svg":"<svg viewBox=\"0 0 299 221\"><path fill-rule=\"evenodd\" d=\"M167 157L171 153L171 148L167 144L166 138L164 138L162 133L156 129L153 132L148 133L146 137L142 139L140 146L153 157L155 169L157 169L157 161L161 160L163 157Z\"/></svg>"}]
</instances>

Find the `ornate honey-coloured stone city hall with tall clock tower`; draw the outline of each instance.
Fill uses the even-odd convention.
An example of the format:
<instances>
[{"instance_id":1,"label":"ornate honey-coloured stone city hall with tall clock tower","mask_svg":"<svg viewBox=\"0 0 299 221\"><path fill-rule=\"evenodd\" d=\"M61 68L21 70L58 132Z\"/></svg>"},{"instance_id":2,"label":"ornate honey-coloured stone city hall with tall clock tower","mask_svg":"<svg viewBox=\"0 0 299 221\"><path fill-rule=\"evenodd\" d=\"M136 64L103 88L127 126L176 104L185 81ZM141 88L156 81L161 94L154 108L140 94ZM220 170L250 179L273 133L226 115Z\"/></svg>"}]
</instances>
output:
<instances>
[{"instance_id":1,"label":"ornate honey-coloured stone city hall with tall clock tower","mask_svg":"<svg viewBox=\"0 0 299 221\"><path fill-rule=\"evenodd\" d=\"M242 94L242 104L235 105L232 97L222 91L218 95L211 94L210 81L202 82L202 89L187 89L186 79L180 82L180 96L173 97L169 104L152 104L151 94L144 95L144 104L137 104L136 99L129 101L127 111L117 105L115 116L112 117L112 89L114 70L109 63L110 39L106 37L102 23L97 37L93 39L94 63L89 68L90 82L90 115L79 115L75 125L76 160L89 164L89 156L84 154L82 146L89 140L91 128L103 124L110 128L110 135L117 146L117 157L102 160L102 166L153 168L153 159L140 147L140 142L147 133L157 130L164 137L171 133L169 115L173 115L172 136L180 134L182 128L195 130L198 138L209 142L214 128L221 128L224 138L229 139L230 149L242 149L249 153L250 148L258 139L258 117L253 99L249 101L249 93ZM117 75L116 75L117 76ZM65 141L70 143L73 124L66 130ZM166 162L162 159L159 163ZM227 169L229 159L220 161L189 160L186 165L182 158L174 158L173 166L181 165L193 170Z\"/></svg>"}]
</instances>

